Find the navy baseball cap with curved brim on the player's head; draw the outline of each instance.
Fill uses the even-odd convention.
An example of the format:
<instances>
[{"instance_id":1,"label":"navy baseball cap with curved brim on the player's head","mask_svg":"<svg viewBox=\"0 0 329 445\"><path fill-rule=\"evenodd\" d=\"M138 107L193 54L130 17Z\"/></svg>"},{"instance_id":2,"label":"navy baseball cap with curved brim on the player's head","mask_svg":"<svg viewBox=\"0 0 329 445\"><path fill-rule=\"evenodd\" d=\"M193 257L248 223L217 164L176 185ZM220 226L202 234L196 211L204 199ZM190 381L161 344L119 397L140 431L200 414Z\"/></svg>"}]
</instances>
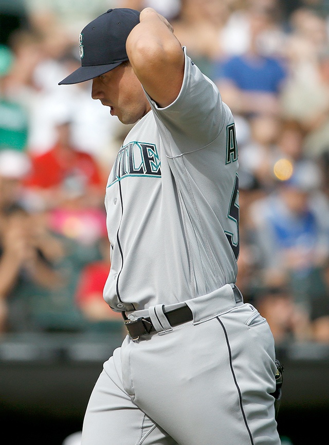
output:
<instances>
[{"instance_id":1,"label":"navy baseball cap with curved brim on the player's head","mask_svg":"<svg viewBox=\"0 0 329 445\"><path fill-rule=\"evenodd\" d=\"M125 43L139 23L139 11L109 9L83 28L79 36L81 67L59 85L85 82L104 74L128 60Z\"/></svg>"}]
</instances>

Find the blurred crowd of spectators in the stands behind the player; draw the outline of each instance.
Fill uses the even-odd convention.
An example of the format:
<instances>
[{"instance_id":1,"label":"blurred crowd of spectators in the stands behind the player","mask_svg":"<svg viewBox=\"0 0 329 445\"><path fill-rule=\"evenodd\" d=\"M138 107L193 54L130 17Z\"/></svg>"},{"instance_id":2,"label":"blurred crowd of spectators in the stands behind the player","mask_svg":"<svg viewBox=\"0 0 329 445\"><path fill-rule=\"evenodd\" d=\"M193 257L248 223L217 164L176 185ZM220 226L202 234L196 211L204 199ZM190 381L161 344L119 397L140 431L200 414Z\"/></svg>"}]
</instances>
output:
<instances>
[{"instance_id":1,"label":"blurred crowd of spectators in the stands behind the player","mask_svg":"<svg viewBox=\"0 0 329 445\"><path fill-rule=\"evenodd\" d=\"M152 6L235 117L245 301L277 343L329 343L329 0L39 3L0 33L0 332L121 320L102 299L104 190L130 126L90 99L90 82L58 82L80 66L88 21Z\"/></svg>"}]
</instances>

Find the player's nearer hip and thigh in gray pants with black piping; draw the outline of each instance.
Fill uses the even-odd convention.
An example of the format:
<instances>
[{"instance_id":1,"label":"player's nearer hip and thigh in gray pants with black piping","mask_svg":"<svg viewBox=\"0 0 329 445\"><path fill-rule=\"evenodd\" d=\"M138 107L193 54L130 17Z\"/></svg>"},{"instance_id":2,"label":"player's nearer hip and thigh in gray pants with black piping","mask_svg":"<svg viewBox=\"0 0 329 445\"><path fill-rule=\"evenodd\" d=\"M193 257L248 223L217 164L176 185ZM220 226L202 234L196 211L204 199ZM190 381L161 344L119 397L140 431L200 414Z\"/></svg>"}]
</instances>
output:
<instances>
[{"instance_id":1,"label":"player's nearer hip and thigh in gray pants with black piping","mask_svg":"<svg viewBox=\"0 0 329 445\"><path fill-rule=\"evenodd\" d=\"M248 304L144 340L127 337L121 347L126 393L184 444L216 443L215 437L223 444L232 443L231 437L249 443L250 436L254 444L264 444L261 437L279 443L270 395L274 359L268 324ZM203 428L191 432L197 423Z\"/></svg>"}]
</instances>

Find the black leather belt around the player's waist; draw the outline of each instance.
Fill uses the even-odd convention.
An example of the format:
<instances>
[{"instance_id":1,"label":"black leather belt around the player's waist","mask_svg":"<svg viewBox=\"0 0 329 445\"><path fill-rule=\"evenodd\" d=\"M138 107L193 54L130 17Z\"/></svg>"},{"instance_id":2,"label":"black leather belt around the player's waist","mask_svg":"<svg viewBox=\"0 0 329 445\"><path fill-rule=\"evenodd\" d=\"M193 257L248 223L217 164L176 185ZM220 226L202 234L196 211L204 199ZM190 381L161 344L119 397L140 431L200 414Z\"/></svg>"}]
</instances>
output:
<instances>
[{"instance_id":1,"label":"black leather belt around the player's waist","mask_svg":"<svg viewBox=\"0 0 329 445\"><path fill-rule=\"evenodd\" d=\"M241 292L236 286L233 287L233 293L236 303L243 301ZM192 311L187 304L167 312L166 309L164 309L164 313L172 327L193 320ZM132 340L138 340L141 335L156 332L150 317L141 317L137 320L130 320L127 318L124 320L124 324Z\"/></svg>"}]
</instances>

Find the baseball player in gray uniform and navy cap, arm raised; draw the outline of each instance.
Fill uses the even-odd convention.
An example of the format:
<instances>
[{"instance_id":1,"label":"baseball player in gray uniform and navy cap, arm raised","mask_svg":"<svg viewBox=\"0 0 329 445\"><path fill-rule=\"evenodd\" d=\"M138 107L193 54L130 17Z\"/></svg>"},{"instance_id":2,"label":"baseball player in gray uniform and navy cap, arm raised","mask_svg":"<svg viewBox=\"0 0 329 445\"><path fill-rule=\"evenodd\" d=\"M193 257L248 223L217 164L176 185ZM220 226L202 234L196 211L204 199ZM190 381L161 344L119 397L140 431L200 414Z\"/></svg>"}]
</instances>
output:
<instances>
[{"instance_id":1,"label":"baseball player in gray uniform and navy cap, arm raised","mask_svg":"<svg viewBox=\"0 0 329 445\"><path fill-rule=\"evenodd\" d=\"M104 363L83 445L278 445L267 321L234 285L237 146L216 86L152 8L80 34L92 97L134 127L108 178L104 298L128 335Z\"/></svg>"}]
</instances>

